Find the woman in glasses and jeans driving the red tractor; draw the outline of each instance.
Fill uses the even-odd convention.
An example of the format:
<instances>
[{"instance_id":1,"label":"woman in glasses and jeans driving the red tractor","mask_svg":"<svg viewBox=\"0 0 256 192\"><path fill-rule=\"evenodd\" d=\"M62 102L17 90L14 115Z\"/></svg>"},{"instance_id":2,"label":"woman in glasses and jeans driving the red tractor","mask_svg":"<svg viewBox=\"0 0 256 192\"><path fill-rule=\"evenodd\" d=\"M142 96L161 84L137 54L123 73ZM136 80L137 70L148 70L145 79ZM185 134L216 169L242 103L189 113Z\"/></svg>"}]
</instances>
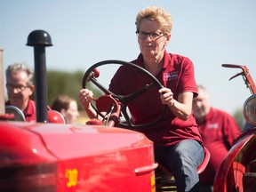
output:
<instances>
[{"instance_id":1,"label":"woman in glasses and jeans driving the red tractor","mask_svg":"<svg viewBox=\"0 0 256 192\"><path fill-rule=\"evenodd\" d=\"M164 87L150 89L129 104L132 121L141 124L156 119L167 106L159 124L137 131L154 141L156 162L172 171L177 191L197 192L196 168L204 160L204 147L192 115L192 100L197 95L194 65L187 57L165 50L171 39L169 12L150 6L138 13L135 24L140 54L132 63L148 70ZM129 95L147 82L148 79L136 70L121 66L111 80L109 91ZM96 118L91 105L92 95L92 91L82 89L79 100L87 116Z\"/></svg>"}]
</instances>

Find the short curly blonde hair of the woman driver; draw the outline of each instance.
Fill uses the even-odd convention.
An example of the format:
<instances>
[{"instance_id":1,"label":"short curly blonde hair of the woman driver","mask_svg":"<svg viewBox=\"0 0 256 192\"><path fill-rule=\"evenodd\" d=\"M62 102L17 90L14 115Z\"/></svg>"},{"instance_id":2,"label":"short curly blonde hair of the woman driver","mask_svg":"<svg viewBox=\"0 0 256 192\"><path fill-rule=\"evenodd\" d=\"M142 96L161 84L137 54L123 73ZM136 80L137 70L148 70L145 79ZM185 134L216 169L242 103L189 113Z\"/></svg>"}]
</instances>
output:
<instances>
[{"instance_id":1,"label":"short curly blonde hair of the woman driver","mask_svg":"<svg viewBox=\"0 0 256 192\"><path fill-rule=\"evenodd\" d=\"M163 33L171 33L172 30L172 16L169 12L157 6L149 6L141 10L136 17L136 28L140 30L140 22L143 19L154 20L159 23Z\"/></svg>"}]
</instances>

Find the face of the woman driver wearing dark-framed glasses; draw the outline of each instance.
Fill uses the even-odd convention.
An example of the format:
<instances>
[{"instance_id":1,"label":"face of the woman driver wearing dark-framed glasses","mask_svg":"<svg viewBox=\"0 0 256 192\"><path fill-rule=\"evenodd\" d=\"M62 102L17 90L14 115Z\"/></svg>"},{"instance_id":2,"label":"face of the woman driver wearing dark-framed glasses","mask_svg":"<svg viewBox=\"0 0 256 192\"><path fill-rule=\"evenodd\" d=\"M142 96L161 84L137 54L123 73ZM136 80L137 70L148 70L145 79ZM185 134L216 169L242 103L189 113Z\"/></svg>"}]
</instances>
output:
<instances>
[{"instance_id":1,"label":"face of the woman driver wearing dark-framed glasses","mask_svg":"<svg viewBox=\"0 0 256 192\"><path fill-rule=\"evenodd\" d=\"M154 57L157 55L164 55L164 47L169 43L171 35L164 35L160 30L160 26L156 21L143 19L140 21L140 33L156 33L158 37L153 38L146 36L141 39L138 37L138 43L140 44L140 52L143 57ZM161 34L162 33L162 34Z\"/></svg>"}]
</instances>

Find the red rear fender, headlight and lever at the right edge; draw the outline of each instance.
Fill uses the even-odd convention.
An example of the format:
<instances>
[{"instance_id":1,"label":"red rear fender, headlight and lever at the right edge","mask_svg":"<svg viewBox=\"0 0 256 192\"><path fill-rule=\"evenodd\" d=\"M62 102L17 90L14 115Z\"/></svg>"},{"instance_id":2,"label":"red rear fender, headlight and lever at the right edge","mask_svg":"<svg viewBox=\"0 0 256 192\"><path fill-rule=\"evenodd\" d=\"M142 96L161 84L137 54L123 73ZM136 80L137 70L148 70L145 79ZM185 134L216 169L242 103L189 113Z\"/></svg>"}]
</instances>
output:
<instances>
[{"instance_id":1,"label":"red rear fender, headlight and lever at the right edge","mask_svg":"<svg viewBox=\"0 0 256 192\"><path fill-rule=\"evenodd\" d=\"M243 114L250 129L245 130L234 141L214 180L214 192L256 191L256 87L249 69L242 65L223 64L225 68L241 68L236 76L243 76L244 83L252 93L244 102ZM232 76L229 80L236 77Z\"/></svg>"}]
</instances>

